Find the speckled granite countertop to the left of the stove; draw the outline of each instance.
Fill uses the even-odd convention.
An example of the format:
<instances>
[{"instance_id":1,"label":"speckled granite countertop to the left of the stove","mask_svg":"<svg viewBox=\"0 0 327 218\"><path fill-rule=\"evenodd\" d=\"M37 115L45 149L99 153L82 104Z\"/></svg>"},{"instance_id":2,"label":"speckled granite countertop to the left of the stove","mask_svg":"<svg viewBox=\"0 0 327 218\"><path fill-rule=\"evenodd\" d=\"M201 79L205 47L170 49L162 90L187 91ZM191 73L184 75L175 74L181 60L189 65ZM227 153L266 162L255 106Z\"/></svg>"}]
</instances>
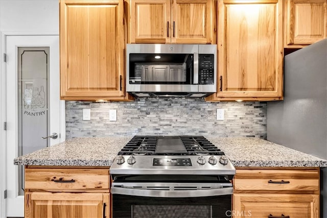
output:
<instances>
[{"instance_id":1,"label":"speckled granite countertop to the left of the stove","mask_svg":"<svg viewBox=\"0 0 327 218\"><path fill-rule=\"evenodd\" d=\"M111 166L131 137L73 138L14 159L16 165Z\"/></svg>"}]
</instances>

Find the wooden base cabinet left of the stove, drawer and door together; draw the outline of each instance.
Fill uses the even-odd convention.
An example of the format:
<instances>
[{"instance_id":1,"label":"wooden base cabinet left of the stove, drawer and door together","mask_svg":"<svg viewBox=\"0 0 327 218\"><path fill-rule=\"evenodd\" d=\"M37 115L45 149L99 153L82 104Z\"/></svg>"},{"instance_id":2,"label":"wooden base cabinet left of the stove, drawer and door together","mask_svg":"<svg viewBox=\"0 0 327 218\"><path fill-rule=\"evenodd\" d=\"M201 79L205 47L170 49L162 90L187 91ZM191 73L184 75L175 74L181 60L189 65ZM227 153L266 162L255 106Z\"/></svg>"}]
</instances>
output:
<instances>
[{"instance_id":1,"label":"wooden base cabinet left of the stove, drawer and door together","mask_svg":"<svg viewBox=\"0 0 327 218\"><path fill-rule=\"evenodd\" d=\"M109 168L25 169L25 217L110 217Z\"/></svg>"}]
</instances>

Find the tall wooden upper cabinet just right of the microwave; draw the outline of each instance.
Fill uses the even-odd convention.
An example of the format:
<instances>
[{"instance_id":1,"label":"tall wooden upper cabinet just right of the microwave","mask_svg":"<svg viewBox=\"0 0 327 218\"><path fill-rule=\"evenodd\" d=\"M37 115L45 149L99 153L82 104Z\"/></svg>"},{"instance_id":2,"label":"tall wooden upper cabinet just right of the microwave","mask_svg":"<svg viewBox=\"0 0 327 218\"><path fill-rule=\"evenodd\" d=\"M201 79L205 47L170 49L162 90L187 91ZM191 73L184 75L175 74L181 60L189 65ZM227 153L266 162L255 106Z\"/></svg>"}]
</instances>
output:
<instances>
[{"instance_id":1,"label":"tall wooden upper cabinet just right of the microwave","mask_svg":"<svg viewBox=\"0 0 327 218\"><path fill-rule=\"evenodd\" d=\"M218 87L206 100L283 99L283 1L218 2Z\"/></svg>"}]
</instances>

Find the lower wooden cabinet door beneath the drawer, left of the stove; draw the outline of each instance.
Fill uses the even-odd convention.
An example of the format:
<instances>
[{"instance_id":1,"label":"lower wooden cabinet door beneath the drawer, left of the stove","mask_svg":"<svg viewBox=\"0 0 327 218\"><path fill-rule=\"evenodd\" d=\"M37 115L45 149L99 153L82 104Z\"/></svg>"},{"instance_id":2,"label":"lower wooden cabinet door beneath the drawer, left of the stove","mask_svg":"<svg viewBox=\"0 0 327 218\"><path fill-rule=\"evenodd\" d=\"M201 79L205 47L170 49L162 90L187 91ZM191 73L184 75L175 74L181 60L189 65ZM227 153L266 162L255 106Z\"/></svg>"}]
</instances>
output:
<instances>
[{"instance_id":1,"label":"lower wooden cabinet door beneath the drawer, left of the stove","mask_svg":"<svg viewBox=\"0 0 327 218\"><path fill-rule=\"evenodd\" d=\"M110 217L109 193L26 192L25 217Z\"/></svg>"}]
</instances>

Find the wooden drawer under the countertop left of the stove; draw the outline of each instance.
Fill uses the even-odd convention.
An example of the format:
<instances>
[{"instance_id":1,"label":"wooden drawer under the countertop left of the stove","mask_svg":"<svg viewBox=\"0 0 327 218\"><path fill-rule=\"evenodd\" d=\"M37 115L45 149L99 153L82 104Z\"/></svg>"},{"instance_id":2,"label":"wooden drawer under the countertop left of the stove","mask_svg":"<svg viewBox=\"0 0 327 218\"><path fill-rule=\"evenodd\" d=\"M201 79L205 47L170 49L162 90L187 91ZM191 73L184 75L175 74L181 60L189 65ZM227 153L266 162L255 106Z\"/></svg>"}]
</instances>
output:
<instances>
[{"instance_id":1,"label":"wooden drawer under the countertop left of the stove","mask_svg":"<svg viewBox=\"0 0 327 218\"><path fill-rule=\"evenodd\" d=\"M25 188L109 191L109 169L26 168Z\"/></svg>"}]
</instances>

